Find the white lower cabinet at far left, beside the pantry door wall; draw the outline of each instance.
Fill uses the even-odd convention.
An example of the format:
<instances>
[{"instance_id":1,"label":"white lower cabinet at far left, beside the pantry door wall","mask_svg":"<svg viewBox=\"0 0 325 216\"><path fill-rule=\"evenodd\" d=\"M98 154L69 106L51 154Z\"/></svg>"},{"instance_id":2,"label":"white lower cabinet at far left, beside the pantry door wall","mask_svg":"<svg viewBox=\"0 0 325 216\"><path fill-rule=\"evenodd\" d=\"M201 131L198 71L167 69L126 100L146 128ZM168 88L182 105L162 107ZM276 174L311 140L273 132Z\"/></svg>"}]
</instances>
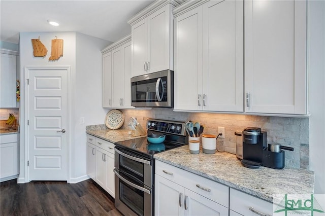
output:
<instances>
[{"instance_id":1,"label":"white lower cabinet at far left, beside the pantry door wall","mask_svg":"<svg viewBox=\"0 0 325 216\"><path fill-rule=\"evenodd\" d=\"M1 135L0 140L0 179L3 182L18 175L18 134Z\"/></svg>"}]
</instances>

